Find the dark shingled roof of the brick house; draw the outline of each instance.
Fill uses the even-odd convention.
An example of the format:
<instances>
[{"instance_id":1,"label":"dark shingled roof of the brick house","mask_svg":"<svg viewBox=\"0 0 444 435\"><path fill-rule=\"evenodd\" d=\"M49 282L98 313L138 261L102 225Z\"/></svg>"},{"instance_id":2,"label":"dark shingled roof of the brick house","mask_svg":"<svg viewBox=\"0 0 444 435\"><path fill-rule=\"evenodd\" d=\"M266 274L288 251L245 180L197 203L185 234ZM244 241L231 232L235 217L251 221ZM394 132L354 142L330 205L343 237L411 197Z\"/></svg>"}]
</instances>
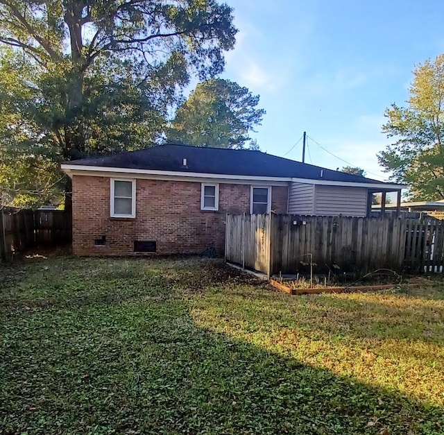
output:
<instances>
[{"instance_id":1,"label":"dark shingled roof of the brick house","mask_svg":"<svg viewBox=\"0 0 444 435\"><path fill-rule=\"evenodd\" d=\"M187 167L182 166L187 159ZM74 160L67 164L152 169L155 171L179 171L214 173L231 176L307 178L340 182L386 183L350 173L333 171L312 164L295 162L261 151L232 150L224 148L200 148L185 145L159 145L139 151L128 151L106 157ZM323 176L321 177L321 169Z\"/></svg>"}]
</instances>

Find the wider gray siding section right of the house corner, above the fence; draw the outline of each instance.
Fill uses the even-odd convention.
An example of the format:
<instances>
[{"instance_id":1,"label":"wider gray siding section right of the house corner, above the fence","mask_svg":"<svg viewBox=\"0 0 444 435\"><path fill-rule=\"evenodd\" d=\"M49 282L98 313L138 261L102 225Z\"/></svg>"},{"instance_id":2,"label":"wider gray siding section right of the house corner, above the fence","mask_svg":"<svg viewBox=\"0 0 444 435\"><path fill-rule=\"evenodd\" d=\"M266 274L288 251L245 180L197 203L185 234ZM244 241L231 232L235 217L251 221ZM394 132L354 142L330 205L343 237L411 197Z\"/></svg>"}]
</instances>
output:
<instances>
[{"instance_id":1,"label":"wider gray siding section right of the house corner, above the fence","mask_svg":"<svg viewBox=\"0 0 444 435\"><path fill-rule=\"evenodd\" d=\"M367 189L317 185L314 214L318 216L358 216L367 214Z\"/></svg>"}]
</instances>

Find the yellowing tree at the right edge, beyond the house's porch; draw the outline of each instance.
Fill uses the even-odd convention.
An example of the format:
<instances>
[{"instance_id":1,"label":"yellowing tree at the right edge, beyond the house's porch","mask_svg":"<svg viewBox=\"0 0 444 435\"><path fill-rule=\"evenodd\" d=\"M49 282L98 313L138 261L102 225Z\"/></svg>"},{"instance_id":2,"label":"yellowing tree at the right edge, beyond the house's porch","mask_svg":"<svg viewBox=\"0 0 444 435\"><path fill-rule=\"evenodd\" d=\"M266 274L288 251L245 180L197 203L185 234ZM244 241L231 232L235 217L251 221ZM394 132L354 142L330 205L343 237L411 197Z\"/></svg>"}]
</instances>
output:
<instances>
[{"instance_id":1,"label":"yellowing tree at the right edge, beyond the house's porch","mask_svg":"<svg viewBox=\"0 0 444 435\"><path fill-rule=\"evenodd\" d=\"M444 198L444 54L413 70L407 108L392 104L382 131L395 142L378 155L413 201Z\"/></svg>"}]
</instances>

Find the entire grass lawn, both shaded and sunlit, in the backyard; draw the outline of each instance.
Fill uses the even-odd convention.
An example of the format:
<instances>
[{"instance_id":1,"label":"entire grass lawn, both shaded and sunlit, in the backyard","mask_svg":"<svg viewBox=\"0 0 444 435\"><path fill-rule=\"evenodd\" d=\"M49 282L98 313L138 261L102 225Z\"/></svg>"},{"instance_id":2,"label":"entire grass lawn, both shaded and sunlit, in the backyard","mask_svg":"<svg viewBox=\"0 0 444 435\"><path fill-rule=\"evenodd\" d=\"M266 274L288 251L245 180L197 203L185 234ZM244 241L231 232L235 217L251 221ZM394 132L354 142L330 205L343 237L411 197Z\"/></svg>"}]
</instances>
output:
<instances>
[{"instance_id":1,"label":"entire grass lawn, both shaded and sunlit, in the backyard","mask_svg":"<svg viewBox=\"0 0 444 435\"><path fill-rule=\"evenodd\" d=\"M444 434L444 284L289 296L198 259L0 266L1 434Z\"/></svg>"}]
</instances>

